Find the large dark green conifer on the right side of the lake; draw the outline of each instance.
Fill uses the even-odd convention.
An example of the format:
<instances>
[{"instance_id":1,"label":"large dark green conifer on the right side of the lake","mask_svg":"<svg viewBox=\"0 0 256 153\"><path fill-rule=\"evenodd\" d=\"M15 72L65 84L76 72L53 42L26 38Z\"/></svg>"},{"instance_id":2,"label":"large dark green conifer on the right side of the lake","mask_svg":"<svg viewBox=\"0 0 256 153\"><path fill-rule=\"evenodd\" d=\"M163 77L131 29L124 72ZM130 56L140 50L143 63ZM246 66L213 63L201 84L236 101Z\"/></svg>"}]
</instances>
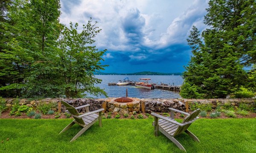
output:
<instances>
[{"instance_id":1,"label":"large dark green conifer on the right side of the lake","mask_svg":"<svg viewBox=\"0 0 256 153\"><path fill-rule=\"evenodd\" d=\"M183 97L225 98L248 83L244 67L255 63L255 12L254 0L209 1L204 43L194 27L188 39L193 56L183 76Z\"/></svg>"}]
</instances>

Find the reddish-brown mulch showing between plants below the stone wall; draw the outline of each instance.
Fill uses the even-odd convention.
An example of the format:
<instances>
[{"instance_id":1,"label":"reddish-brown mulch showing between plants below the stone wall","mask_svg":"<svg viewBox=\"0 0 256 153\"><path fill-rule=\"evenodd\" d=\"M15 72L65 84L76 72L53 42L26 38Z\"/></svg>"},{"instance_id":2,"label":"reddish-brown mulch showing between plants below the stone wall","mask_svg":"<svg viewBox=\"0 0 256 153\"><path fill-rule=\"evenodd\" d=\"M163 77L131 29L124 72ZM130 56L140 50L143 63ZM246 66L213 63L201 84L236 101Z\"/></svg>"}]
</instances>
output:
<instances>
[{"instance_id":1,"label":"reddish-brown mulch showing between plants below the stone wall","mask_svg":"<svg viewBox=\"0 0 256 153\"><path fill-rule=\"evenodd\" d=\"M37 112L37 113L39 113L39 112ZM189 112L189 113L191 113L191 112ZM34 119L34 116L29 117L29 116L26 115L26 113L22 113L21 116L14 116L14 115L10 116L9 114L10 114L10 110L2 112L2 114L0 116L0 119ZM143 115L144 119L148 118L148 116L146 116L146 113L140 113L140 114ZM160 113L160 114L163 115L163 113ZM55 119L55 114L51 114L51 115L41 114L41 115L42 115L41 119ZM108 115L109 115L108 113L104 114L104 116L106 118L107 118ZM115 118L116 115L117 114L112 113L111 118ZM128 117L126 117L126 118L123 115L120 115L120 119L130 119L132 115L133 114L129 114ZM138 115L139 114L137 113L133 116L134 116L135 119L138 119ZM209 113L208 113L208 115L209 115ZM66 119L66 118L67 117L64 115L64 113L61 113L61 116L58 119ZM207 117L201 117L200 116L200 118L212 119L210 116L207 116ZM228 118L231 118L231 117L225 116L224 113L221 113L221 116L217 117L217 119L228 119ZM249 115L247 115L247 116L242 116L242 115L236 114L236 118L256 118L256 113L250 112ZM176 113L175 114L175 119L183 119L183 118L180 117L180 113Z\"/></svg>"}]
</instances>

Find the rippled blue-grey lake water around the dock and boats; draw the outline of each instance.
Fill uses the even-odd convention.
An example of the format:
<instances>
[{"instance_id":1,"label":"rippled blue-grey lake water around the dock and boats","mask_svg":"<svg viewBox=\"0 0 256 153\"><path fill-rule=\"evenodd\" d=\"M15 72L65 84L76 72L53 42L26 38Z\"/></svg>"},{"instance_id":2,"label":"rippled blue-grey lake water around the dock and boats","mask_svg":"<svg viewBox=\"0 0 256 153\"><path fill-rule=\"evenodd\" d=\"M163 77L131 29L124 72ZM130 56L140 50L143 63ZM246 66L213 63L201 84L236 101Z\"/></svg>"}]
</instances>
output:
<instances>
[{"instance_id":1,"label":"rippled blue-grey lake water around the dock and boats","mask_svg":"<svg viewBox=\"0 0 256 153\"><path fill-rule=\"evenodd\" d=\"M126 77L129 78L130 81L138 82L140 78L150 78L149 83L157 83L160 82L164 84L170 85L182 85L183 79L181 76L173 76L173 75L96 75L96 78L102 79L102 83L95 85L102 89L104 89L109 97L121 97L126 96L126 88L128 89L129 97L137 97L137 98L180 98L179 93L162 90L162 89L144 89L137 88L134 85L108 85L109 82L118 82L118 80L123 80ZM105 98L105 96L92 96L93 98Z\"/></svg>"}]
</instances>

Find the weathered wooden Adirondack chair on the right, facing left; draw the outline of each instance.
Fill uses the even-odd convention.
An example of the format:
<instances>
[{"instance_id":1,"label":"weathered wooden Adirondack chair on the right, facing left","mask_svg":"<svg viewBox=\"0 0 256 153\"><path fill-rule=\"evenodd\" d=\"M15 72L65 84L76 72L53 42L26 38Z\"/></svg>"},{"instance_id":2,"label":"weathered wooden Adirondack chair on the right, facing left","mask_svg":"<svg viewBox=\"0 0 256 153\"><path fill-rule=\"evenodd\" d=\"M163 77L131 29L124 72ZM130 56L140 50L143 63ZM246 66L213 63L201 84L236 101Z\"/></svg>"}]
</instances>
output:
<instances>
[{"instance_id":1,"label":"weathered wooden Adirondack chair on the right, facing left","mask_svg":"<svg viewBox=\"0 0 256 153\"><path fill-rule=\"evenodd\" d=\"M191 133L189 130L189 126L194 122L196 119L198 119L198 114L200 113L200 109L197 109L193 111L191 114L179 111L174 108L169 108L171 110L171 116L170 117L164 117L157 113L151 113L151 115L154 116L154 135L157 136L157 131L159 130L161 133L163 133L167 138L169 138L172 142L174 142L177 147L180 148L180 150L185 150L185 148L178 142L174 137L186 132L189 136L192 137L196 142L200 142L199 139ZM174 112L183 113L184 115L187 115L182 123L179 123L174 120Z\"/></svg>"}]
</instances>

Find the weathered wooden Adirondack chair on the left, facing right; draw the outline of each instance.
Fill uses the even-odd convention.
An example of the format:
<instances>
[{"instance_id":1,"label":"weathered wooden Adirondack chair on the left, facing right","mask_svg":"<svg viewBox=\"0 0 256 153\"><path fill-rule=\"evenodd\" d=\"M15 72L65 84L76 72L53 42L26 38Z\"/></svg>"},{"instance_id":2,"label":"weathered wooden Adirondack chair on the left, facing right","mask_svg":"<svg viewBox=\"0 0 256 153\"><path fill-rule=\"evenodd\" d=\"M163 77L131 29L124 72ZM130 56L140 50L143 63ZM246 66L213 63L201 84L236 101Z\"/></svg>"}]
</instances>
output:
<instances>
[{"instance_id":1,"label":"weathered wooden Adirondack chair on the left, facing right","mask_svg":"<svg viewBox=\"0 0 256 153\"><path fill-rule=\"evenodd\" d=\"M73 142L76 140L81 134L83 134L90 126L92 126L97 120L99 120L99 127L102 127L102 116L101 112L104 111L103 108L98 109L96 111L89 112L89 104L79 106L77 108L74 108L73 106L69 105L67 102L61 101L61 103L67 108L67 112L69 112L73 117L74 120L67 125L59 134L63 133L64 131L68 130L70 127L72 127L75 123L83 127L79 133L76 134L76 136L73 137L73 139L70 142ZM86 107L86 113L79 114L77 109ZM99 113L96 114L96 113Z\"/></svg>"}]
</instances>

